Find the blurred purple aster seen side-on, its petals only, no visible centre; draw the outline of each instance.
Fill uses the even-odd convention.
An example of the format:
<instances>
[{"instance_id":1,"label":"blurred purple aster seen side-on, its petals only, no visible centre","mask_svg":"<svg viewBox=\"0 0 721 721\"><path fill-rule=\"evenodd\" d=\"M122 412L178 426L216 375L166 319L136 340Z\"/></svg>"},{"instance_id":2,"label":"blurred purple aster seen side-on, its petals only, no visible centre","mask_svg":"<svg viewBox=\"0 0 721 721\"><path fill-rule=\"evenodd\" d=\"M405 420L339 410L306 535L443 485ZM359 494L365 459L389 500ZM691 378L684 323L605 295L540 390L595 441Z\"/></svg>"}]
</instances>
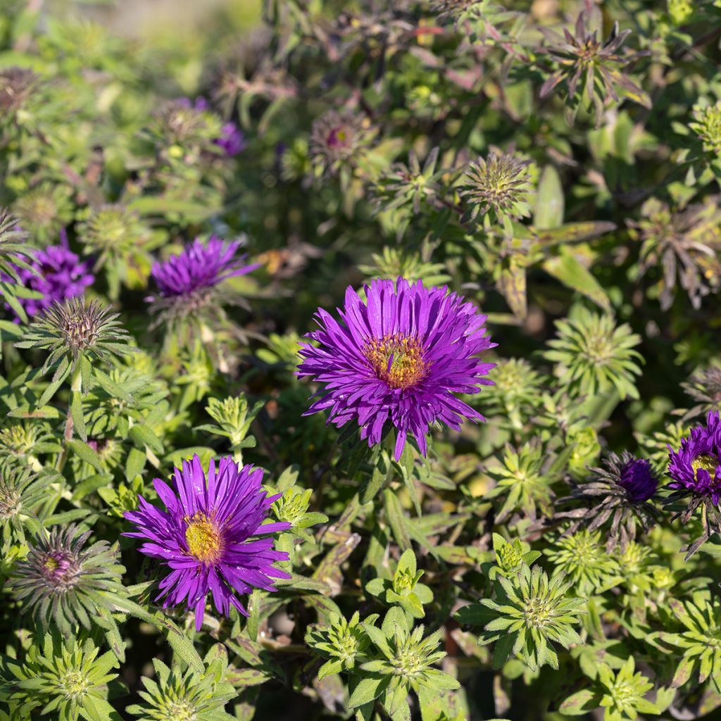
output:
<instances>
[{"instance_id":1,"label":"blurred purple aster seen side-on, its petals only, no visible centre","mask_svg":"<svg viewBox=\"0 0 721 721\"><path fill-rule=\"evenodd\" d=\"M234 275L245 275L259 267L245 265L246 255L236 257L240 241L224 242L211 236L208 242L198 239L187 245L180 255L156 262L151 270L163 298L178 298L203 293Z\"/></svg>"}]
</instances>

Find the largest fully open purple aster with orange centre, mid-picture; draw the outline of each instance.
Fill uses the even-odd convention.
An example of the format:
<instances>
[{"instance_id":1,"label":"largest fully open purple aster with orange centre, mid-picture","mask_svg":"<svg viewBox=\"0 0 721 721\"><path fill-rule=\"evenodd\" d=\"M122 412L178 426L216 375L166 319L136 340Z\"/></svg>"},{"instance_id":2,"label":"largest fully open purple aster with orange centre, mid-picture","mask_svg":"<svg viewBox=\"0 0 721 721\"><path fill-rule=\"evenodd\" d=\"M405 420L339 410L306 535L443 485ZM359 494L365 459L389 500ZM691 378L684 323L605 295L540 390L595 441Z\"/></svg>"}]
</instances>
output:
<instances>
[{"instance_id":1,"label":"largest fully open purple aster with orange centre, mid-picture","mask_svg":"<svg viewBox=\"0 0 721 721\"><path fill-rule=\"evenodd\" d=\"M477 354L495 347L486 335L485 315L448 288L425 288L419 280L373 280L367 303L353 288L337 322L318 309L320 329L301 343L298 376L324 384L305 415L329 410L337 426L356 420L368 445L381 441L384 426L397 430L399 459L411 433L425 455L432 423L460 430L465 418L485 420L454 393L477 393L492 385L484 378L495 363Z\"/></svg>"}]
</instances>

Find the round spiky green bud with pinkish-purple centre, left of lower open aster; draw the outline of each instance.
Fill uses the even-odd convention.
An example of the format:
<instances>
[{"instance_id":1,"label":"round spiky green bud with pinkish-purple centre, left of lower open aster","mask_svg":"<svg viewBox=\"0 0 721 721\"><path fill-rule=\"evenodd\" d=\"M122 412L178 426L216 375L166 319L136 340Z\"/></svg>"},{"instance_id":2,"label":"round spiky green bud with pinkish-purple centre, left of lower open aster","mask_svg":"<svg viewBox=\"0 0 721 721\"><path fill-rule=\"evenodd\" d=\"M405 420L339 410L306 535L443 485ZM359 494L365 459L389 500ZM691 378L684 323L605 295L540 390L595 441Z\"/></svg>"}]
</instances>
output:
<instances>
[{"instance_id":1,"label":"round spiky green bud with pinkish-purple centre, left of lower open aster","mask_svg":"<svg viewBox=\"0 0 721 721\"><path fill-rule=\"evenodd\" d=\"M123 593L125 568L118 563L118 545L97 541L86 546L91 533L79 533L77 526L43 531L27 559L17 564L11 580L14 596L40 627L53 622L67 635L78 624L90 629L94 614L107 618L112 595Z\"/></svg>"}]
</instances>

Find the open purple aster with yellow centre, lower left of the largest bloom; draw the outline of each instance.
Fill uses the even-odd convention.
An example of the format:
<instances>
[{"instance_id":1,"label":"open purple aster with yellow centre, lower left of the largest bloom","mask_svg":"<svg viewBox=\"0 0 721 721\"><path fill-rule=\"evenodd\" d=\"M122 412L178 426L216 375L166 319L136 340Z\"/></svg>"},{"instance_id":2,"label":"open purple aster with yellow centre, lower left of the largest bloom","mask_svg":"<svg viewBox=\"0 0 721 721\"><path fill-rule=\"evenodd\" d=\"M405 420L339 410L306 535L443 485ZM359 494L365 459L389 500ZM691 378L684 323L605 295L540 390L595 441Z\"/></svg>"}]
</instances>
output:
<instances>
[{"instance_id":1,"label":"open purple aster with yellow centre, lower left of the largest bloom","mask_svg":"<svg viewBox=\"0 0 721 721\"><path fill-rule=\"evenodd\" d=\"M143 497L139 508L125 518L138 531L125 534L146 542L141 553L169 567L160 582L163 608L185 603L195 609L195 628L203 624L205 600L213 593L218 613L228 615L235 606L247 611L235 593L253 588L275 590L273 578L291 578L273 567L288 554L273 550L273 539L262 538L290 528L290 523L262 523L280 494L267 497L262 490L263 472L253 466L239 466L231 458L218 464L211 460L206 477L197 455L175 469L174 485L159 478L155 490L167 510L158 510Z\"/></svg>"}]
</instances>

